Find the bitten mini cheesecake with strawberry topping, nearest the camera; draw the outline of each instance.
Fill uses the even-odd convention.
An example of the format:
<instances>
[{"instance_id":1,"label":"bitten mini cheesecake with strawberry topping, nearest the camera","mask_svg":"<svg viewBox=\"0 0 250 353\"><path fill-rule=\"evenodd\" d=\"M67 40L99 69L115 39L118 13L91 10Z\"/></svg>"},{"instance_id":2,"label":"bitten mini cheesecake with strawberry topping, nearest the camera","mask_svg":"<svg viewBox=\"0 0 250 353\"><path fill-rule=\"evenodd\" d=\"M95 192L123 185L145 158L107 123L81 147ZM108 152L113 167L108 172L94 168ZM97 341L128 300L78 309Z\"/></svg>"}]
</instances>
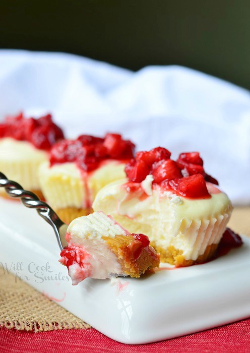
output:
<instances>
[{"instance_id":1,"label":"bitten mini cheesecake with strawberry topping, nearest the camera","mask_svg":"<svg viewBox=\"0 0 250 353\"><path fill-rule=\"evenodd\" d=\"M198 152L170 156L162 147L138 152L126 165L127 179L101 189L93 209L147 234L162 262L189 266L215 255L232 205Z\"/></svg>"}]
</instances>

